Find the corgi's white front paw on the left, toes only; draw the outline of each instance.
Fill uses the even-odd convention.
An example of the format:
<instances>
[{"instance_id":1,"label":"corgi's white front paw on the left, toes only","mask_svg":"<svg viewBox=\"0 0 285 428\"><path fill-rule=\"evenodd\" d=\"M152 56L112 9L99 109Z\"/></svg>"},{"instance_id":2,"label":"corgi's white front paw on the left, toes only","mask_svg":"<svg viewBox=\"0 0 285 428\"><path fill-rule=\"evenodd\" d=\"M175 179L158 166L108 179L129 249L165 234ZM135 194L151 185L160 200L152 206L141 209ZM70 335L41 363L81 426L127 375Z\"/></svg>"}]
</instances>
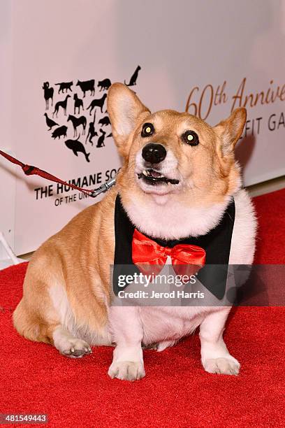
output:
<instances>
[{"instance_id":1,"label":"corgi's white front paw on the left, toes only","mask_svg":"<svg viewBox=\"0 0 285 428\"><path fill-rule=\"evenodd\" d=\"M108 370L110 378L138 380L145 377L145 368L141 362L115 361Z\"/></svg>"}]
</instances>

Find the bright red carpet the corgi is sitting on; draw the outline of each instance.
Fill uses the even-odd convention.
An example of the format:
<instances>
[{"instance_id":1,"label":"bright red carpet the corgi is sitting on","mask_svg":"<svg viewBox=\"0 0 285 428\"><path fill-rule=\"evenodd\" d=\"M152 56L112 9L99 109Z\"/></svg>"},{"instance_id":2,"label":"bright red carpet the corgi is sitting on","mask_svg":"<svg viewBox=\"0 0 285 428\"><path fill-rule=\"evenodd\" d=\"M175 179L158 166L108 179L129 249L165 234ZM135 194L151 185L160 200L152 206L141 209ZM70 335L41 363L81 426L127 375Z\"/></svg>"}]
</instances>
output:
<instances>
[{"instance_id":1,"label":"bright red carpet the corgi is sitting on","mask_svg":"<svg viewBox=\"0 0 285 428\"><path fill-rule=\"evenodd\" d=\"M256 263L284 264L285 190L255 204ZM0 271L1 413L47 413L50 427L285 426L284 308L233 311L226 343L242 364L238 377L205 373L195 335L163 352L145 351L146 378L128 383L107 376L111 348L68 359L18 336L11 313L26 268Z\"/></svg>"}]
</instances>

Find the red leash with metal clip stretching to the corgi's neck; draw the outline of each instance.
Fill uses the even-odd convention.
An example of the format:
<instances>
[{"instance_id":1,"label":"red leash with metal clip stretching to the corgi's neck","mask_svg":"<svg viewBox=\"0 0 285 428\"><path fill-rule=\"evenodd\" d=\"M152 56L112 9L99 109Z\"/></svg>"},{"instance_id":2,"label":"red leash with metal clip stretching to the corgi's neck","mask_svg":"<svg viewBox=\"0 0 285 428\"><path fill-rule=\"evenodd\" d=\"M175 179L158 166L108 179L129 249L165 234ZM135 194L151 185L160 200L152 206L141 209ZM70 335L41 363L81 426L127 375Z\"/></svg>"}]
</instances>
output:
<instances>
[{"instance_id":1,"label":"red leash with metal clip stretching to the corgi's neck","mask_svg":"<svg viewBox=\"0 0 285 428\"><path fill-rule=\"evenodd\" d=\"M7 153L2 152L2 150L0 150L0 155L8 159L8 161L12 162L12 164L20 166L24 171L24 173L26 174L26 176L40 176L42 178L45 178L45 180L51 180L51 181L54 181L54 183L60 183L68 187L72 187L75 190L80 190L80 192L88 194L92 198L95 198L101 192L105 192L106 190L108 190L109 187L115 184L115 178L113 178L112 180L109 180L107 183L104 183L103 185L101 185L101 187L98 187L98 189L94 189L94 190L83 189L82 187L78 187L73 184L66 183L66 181L63 181L60 178L52 176L52 174L47 173L46 171L43 171L43 169L39 169L36 166L23 164L22 162L20 162L20 160L15 159L15 157L13 156L7 155Z\"/></svg>"}]
</instances>

